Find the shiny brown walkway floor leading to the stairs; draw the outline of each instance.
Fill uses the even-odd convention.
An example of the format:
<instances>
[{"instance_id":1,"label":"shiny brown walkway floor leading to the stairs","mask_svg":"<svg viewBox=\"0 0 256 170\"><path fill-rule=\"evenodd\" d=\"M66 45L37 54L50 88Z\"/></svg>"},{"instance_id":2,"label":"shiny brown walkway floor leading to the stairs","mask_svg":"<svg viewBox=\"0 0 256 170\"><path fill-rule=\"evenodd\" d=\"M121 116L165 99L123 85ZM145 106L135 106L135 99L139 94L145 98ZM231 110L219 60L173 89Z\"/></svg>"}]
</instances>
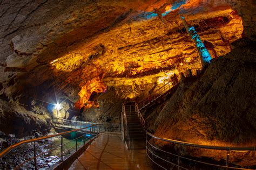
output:
<instances>
[{"instance_id":1,"label":"shiny brown walkway floor leading to the stairs","mask_svg":"<svg viewBox=\"0 0 256 170\"><path fill-rule=\"evenodd\" d=\"M126 150L120 134L100 134L69 169L152 169L146 150Z\"/></svg>"}]
</instances>

